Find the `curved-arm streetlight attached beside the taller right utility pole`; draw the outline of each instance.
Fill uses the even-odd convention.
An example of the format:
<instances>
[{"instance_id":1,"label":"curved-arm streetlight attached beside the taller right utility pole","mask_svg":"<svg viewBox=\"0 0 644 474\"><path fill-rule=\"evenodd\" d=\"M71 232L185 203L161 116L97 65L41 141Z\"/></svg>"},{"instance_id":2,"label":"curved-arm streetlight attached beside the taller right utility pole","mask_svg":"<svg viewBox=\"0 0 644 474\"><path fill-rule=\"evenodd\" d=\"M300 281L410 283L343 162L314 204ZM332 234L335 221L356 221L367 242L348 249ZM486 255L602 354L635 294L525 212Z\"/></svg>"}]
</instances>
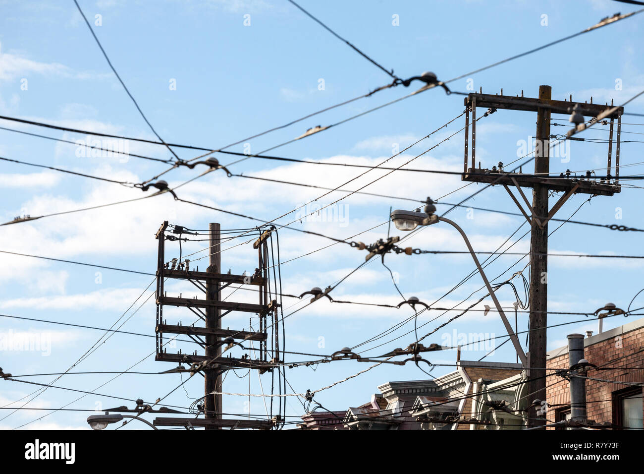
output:
<instances>
[{"instance_id":1,"label":"curved-arm streetlight attached beside the taller right utility pole","mask_svg":"<svg viewBox=\"0 0 644 474\"><path fill-rule=\"evenodd\" d=\"M489 295L492 298L492 301L494 301L495 306L497 306L498 313L501 319L503 320L503 324L506 326L507 334L509 335L510 339L512 340L512 343L515 346L516 353L519 356L519 359L521 359L522 364L524 364L524 366L527 367L526 354L521 348L521 344L518 340L518 337L516 337L516 333L512 330L512 326L507 321L506 313L503 312L503 309L501 308L501 304L498 302L497 295L495 295L494 290L492 289L492 286L489 284L488 277L486 277L486 274L483 272L483 268L480 262L478 261L477 255L474 253L474 250L471 244L469 243L467 235L465 235L465 232L463 232L463 230L456 222L450 221L450 219L446 219L445 217L440 217L439 215L436 215L434 213L436 211L436 206L434 206L433 201L431 201L429 197L427 198L426 202L427 204L424 207L424 212L421 212L420 209L417 209L415 211L406 211L402 209L397 209L392 211L390 217L393 221L393 224L396 226L398 230L410 231L410 230L414 230L418 226L430 226L431 224L436 224L437 222L442 221L442 222L447 222L453 228L459 231L460 235L462 235L463 240L465 241L465 244L468 246L468 250L469 250L469 253L471 253L472 255L472 259L474 259L474 262L477 265L478 273L480 273L483 281L485 282L486 288L488 288Z\"/></svg>"}]
</instances>

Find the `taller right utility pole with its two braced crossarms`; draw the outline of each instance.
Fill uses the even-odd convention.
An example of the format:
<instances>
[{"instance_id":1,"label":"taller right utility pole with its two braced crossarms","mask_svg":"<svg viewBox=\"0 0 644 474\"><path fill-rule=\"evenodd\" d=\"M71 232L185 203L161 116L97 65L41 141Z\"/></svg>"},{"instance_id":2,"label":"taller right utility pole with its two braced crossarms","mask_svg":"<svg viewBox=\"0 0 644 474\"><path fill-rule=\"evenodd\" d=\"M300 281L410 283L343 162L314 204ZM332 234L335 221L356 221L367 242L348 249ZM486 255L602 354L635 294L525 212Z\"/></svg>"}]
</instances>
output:
<instances>
[{"instance_id":1,"label":"taller right utility pole with its two braced crossarms","mask_svg":"<svg viewBox=\"0 0 644 474\"><path fill-rule=\"evenodd\" d=\"M621 191L619 184L620 171L620 134L621 134L621 115L624 113L622 107L612 107L609 104L593 104L592 97L590 103L573 102L572 96L569 100L553 100L551 86L540 86L539 97L516 97L501 94L483 94L482 90L477 93L468 94L465 98L466 116L465 116L465 149L463 163L463 181L472 183L485 183L492 186L503 186L506 192L515 202L526 221L531 226L530 241L530 321L529 321L529 356L526 369L528 373L527 397L528 402L533 400L545 400L545 350L546 350L546 326L547 326L547 281L548 281L548 226L547 223L554 217L556 212L562 208L564 203L574 194L582 193L589 195L612 196L614 193ZM522 166L518 166L518 172L515 169L506 171L504 164L499 161L498 164L489 166L478 166L476 163L476 126L477 108L487 108L484 116L493 114L497 110L513 110L524 112L536 112L536 146L535 146L535 171L533 173L524 173ZM608 159L607 159L607 176L594 177L589 170L584 175L576 175L569 171L560 172L559 175L550 175L550 119L551 115L564 115L571 117L573 111L582 114L585 117L598 117L610 119L610 130L613 130L614 122L617 122L617 136L613 140L612 133L609 134L608 140ZM471 115L471 125L469 123ZM482 117L480 117L482 118ZM579 118L579 117L576 117ZM584 119L582 117L582 119ZM585 120L585 119L584 119ZM469 141L469 130L471 129L471 142ZM611 176L612 170L612 148L615 150L615 174ZM471 160L470 160L471 148ZM561 148L555 150L561 151ZM519 159L527 159L531 153L519 156ZM570 157L568 157L569 161ZM511 163L515 163L514 160ZM529 159L527 160L529 161ZM527 161L525 164L527 164ZM562 163L567 163L563 161ZM523 192L522 188L533 188L533 199L530 202ZM549 192L562 192L563 194L552 208L548 206ZM518 197L515 195L518 193ZM524 209L524 205L527 209ZM504 317L503 315L501 315ZM506 324L507 327L507 324ZM515 330L516 332L516 330ZM510 337L516 337L510 334ZM514 341L513 341L514 342ZM516 347L516 346L515 346ZM517 355L521 359L524 355L523 350L519 347ZM542 408L542 404L531 408L529 418L532 420L532 426L544 424L544 421L535 420L543 416L543 411L537 413Z\"/></svg>"}]
</instances>

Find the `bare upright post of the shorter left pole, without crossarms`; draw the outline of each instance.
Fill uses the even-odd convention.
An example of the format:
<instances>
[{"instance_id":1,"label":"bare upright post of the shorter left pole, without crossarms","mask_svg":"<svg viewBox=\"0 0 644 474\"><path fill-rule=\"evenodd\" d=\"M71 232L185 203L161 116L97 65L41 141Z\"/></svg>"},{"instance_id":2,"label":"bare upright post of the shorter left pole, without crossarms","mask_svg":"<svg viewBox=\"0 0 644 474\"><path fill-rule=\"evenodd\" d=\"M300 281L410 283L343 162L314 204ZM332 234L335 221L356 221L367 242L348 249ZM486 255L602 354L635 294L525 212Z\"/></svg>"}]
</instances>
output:
<instances>
[{"instance_id":1,"label":"bare upright post of the shorter left pole, without crossarms","mask_svg":"<svg viewBox=\"0 0 644 474\"><path fill-rule=\"evenodd\" d=\"M221 254L221 226L218 223L211 222L209 224L210 230L210 266L207 273L221 273L222 254ZM220 301L219 281L208 280L206 282L206 300L207 301ZM221 310L214 306L209 306L205 310L205 328L207 330L219 330L222 328ZM206 359L214 359L222 355L222 347L218 342L220 337L218 335L209 334L205 337L205 356ZM205 417L207 419L221 419L222 418L222 395L207 395L213 391L222 391L222 375L217 368L208 368L204 370L204 393L205 395ZM214 426L207 426L206 430L216 430Z\"/></svg>"}]
</instances>

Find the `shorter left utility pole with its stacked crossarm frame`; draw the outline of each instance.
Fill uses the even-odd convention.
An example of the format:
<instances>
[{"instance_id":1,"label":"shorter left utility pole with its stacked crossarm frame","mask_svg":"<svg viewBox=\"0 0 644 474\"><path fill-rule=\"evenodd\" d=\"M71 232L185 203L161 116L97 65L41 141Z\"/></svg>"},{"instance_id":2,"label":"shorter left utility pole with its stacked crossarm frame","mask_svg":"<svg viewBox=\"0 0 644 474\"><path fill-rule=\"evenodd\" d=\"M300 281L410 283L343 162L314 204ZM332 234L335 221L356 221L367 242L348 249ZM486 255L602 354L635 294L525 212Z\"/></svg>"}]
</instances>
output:
<instances>
[{"instance_id":1,"label":"shorter left utility pole with its stacked crossarm frame","mask_svg":"<svg viewBox=\"0 0 644 474\"><path fill-rule=\"evenodd\" d=\"M206 430L221 430L223 428L272 428L275 426L275 420L240 420L240 419L223 419L222 395L209 395L213 392L222 391L222 373L232 368L244 368L259 370L264 373L274 368L273 361L267 360L267 339L268 333L267 319L274 321L279 305L277 301L266 301L269 288L269 263L267 259L268 244L267 239L270 231L264 232L260 239L254 244L253 248L258 251L258 267L252 275L243 273L242 275L233 274L230 270L222 273L221 264L221 226L220 224L210 224L210 264L206 272L200 272L197 266L191 268L188 259L171 259L166 261L166 241L175 242L186 240L182 237L184 234L193 234L191 230L183 226L170 224L164 221L156 232L158 239L158 259L156 268L156 356L155 360L164 362L173 362L179 367L173 371L203 373L204 375L204 418L167 418L160 417L154 420L154 426L183 426L187 429L205 428ZM167 232L168 228L171 231ZM198 260L198 259L197 259ZM204 298L199 297L182 297L179 295L168 296L164 289L164 282L167 279L179 279L189 281L198 290L203 291ZM222 290L229 288L232 284L238 286L251 285L258 290L259 304L222 301ZM233 287L234 288L234 287ZM189 326L184 326L181 321L171 321L170 324L164 317L164 306L173 306L188 308L192 314L197 315L205 323L205 327L196 326L195 322ZM222 317L231 313L254 313L260 319L260 331L234 330L231 328L222 329ZM276 341L277 326L273 326L272 341ZM204 354L198 354L197 350L184 352L185 345L178 348L178 351L168 352L167 350L176 347L175 337L168 338L167 333L187 335L199 348L204 348ZM241 358L220 357L222 355L222 338L238 339L243 341L258 341L260 344L260 357L250 359L248 356ZM182 341L187 342L187 341ZM232 342L228 341L230 344ZM190 346L188 346L190 347ZM194 347L194 346L193 346ZM277 349L277 346L276 346ZM182 364L191 364L190 369L183 368Z\"/></svg>"}]
</instances>

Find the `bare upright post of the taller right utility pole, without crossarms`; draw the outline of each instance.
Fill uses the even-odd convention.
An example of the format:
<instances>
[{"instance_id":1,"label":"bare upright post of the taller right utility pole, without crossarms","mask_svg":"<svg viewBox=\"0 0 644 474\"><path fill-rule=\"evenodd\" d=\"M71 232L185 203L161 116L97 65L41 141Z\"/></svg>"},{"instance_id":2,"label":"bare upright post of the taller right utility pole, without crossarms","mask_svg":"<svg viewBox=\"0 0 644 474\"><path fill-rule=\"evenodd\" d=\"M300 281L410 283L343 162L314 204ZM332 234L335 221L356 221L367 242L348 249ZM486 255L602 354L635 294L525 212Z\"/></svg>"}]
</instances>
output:
<instances>
[{"instance_id":1,"label":"bare upright post of the taller right utility pole, without crossarms","mask_svg":"<svg viewBox=\"0 0 644 474\"><path fill-rule=\"evenodd\" d=\"M539 86L539 99L549 101L552 98L551 86ZM550 171L550 110L539 108L536 115L536 153L535 173ZM548 226L543 228L537 221L542 222L542 216L548 215L548 186L535 184L533 189L532 208L538 219L532 219L532 233L530 240L530 333L529 333L529 403L533 400L545 400L545 346L548 310ZM529 417L535 419L537 411L542 408L536 406L529 412ZM543 415L543 413L540 413ZM545 418L545 417L544 417ZM545 422L531 420L531 426L538 426Z\"/></svg>"}]
</instances>

